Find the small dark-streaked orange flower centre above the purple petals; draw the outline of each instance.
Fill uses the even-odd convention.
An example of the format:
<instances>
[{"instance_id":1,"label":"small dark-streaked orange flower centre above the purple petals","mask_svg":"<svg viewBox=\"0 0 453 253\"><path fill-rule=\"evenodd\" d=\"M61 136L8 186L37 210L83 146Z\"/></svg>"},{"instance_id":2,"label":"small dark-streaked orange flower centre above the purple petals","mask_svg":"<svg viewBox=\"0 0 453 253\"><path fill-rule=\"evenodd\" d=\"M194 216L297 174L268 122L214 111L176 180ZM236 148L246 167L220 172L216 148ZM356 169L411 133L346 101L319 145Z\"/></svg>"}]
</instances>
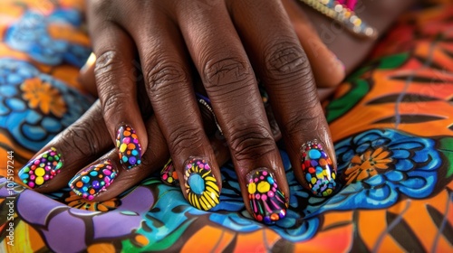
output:
<instances>
[{"instance_id":1,"label":"small dark-streaked orange flower centre above the purple petals","mask_svg":"<svg viewBox=\"0 0 453 253\"><path fill-rule=\"evenodd\" d=\"M70 196L67 197L64 201L70 207L87 211L112 211L117 209L117 207L120 205L120 201L116 198L100 202L87 201L74 192L70 192Z\"/></svg>"}]
</instances>

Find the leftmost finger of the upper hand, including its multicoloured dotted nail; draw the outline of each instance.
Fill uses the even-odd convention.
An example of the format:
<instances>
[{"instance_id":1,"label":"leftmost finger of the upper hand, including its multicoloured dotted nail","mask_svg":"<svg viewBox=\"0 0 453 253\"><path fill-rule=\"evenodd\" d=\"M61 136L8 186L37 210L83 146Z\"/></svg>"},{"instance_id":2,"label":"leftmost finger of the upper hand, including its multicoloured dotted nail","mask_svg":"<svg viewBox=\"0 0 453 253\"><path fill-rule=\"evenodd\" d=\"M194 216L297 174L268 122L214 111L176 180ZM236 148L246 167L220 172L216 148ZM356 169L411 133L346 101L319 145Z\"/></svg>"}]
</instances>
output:
<instances>
[{"instance_id":1,"label":"leftmost finger of the upper hand, including its multicoloured dotted nail","mask_svg":"<svg viewBox=\"0 0 453 253\"><path fill-rule=\"evenodd\" d=\"M141 163L141 145L148 145L137 102L134 46L120 27L100 22L93 14L89 12L88 17L93 52L98 57L94 74L102 113L121 164L131 169Z\"/></svg>"}]
</instances>

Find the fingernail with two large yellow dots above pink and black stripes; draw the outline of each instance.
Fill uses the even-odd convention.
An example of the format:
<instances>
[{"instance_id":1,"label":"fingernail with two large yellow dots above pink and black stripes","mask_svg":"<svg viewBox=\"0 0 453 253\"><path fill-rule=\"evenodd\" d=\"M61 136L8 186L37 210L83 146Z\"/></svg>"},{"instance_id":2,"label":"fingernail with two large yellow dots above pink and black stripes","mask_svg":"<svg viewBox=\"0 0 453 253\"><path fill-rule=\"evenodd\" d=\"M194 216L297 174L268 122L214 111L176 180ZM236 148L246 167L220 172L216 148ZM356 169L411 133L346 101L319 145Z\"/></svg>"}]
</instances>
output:
<instances>
[{"instance_id":1,"label":"fingernail with two large yellow dots above pink and black stripes","mask_svg":"<svg viewBox=\"0 0 453 253\"><path fill-rule=\"evenodd\" d=\"M248 173L246 187L255 220L274 224L284 219L288 204L272 173L265 168L255 169Z\"/></svg>"}]
</instances>

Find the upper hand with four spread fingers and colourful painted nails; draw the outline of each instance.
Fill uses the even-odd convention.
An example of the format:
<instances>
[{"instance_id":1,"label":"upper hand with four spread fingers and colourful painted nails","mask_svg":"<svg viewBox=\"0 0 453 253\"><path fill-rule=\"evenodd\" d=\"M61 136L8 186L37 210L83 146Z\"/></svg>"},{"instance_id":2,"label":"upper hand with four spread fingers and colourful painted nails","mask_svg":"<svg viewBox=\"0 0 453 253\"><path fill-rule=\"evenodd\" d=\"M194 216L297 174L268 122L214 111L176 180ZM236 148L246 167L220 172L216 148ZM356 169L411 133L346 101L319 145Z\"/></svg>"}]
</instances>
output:
<instances>
[{"instance_id":1,"label":"upper hand with four spread fingers and colourful painted nails","mask_svg":"<svg viewBox=\"0 0 453 253\"><path fill-rule=\"evenodd\" d=\"M298 180L325 196L335 186L335 160L313 75L280 3L208 3L89 2L105 126L130 169L127 174L142 170L145 166L137 165L145 163L156 141L140 117L137 90L142 87L130 72L137 50L156 121L185 181L181 188L192 205L212 208L220 175L192 87L198 74L226 136L247 210L272 223L284 217L289 192L255 74L269 93Z\"/></svg>"}]
</instances>

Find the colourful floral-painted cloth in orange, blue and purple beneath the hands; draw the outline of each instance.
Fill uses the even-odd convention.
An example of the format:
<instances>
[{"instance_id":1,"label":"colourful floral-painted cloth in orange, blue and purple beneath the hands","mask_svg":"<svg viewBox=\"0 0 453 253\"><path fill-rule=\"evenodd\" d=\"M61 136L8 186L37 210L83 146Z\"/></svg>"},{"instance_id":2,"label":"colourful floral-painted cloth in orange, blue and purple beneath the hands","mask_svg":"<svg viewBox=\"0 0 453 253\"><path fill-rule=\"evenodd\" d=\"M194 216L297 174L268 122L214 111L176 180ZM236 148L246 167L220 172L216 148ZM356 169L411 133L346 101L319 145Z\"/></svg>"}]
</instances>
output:
<instances>
[{"instance_id":1,"label":"colourful floral-painted cloth in orange, blue and purple beneath the hands","mask_svg":"<svg viewBox=\"0 0 453 253\"><path fill-rule=\"evenodd\" d=\"M265 226L231 164L214 211L158 176L103 202L8 185L10 158L16 172L92 104L76 80L90 54L82 2L0 3L1 252L453 252L453 5L403 15L325 103L341 174L333 197L305 191L281 151L290 207Z\"/></svg>"}]
</instances>

